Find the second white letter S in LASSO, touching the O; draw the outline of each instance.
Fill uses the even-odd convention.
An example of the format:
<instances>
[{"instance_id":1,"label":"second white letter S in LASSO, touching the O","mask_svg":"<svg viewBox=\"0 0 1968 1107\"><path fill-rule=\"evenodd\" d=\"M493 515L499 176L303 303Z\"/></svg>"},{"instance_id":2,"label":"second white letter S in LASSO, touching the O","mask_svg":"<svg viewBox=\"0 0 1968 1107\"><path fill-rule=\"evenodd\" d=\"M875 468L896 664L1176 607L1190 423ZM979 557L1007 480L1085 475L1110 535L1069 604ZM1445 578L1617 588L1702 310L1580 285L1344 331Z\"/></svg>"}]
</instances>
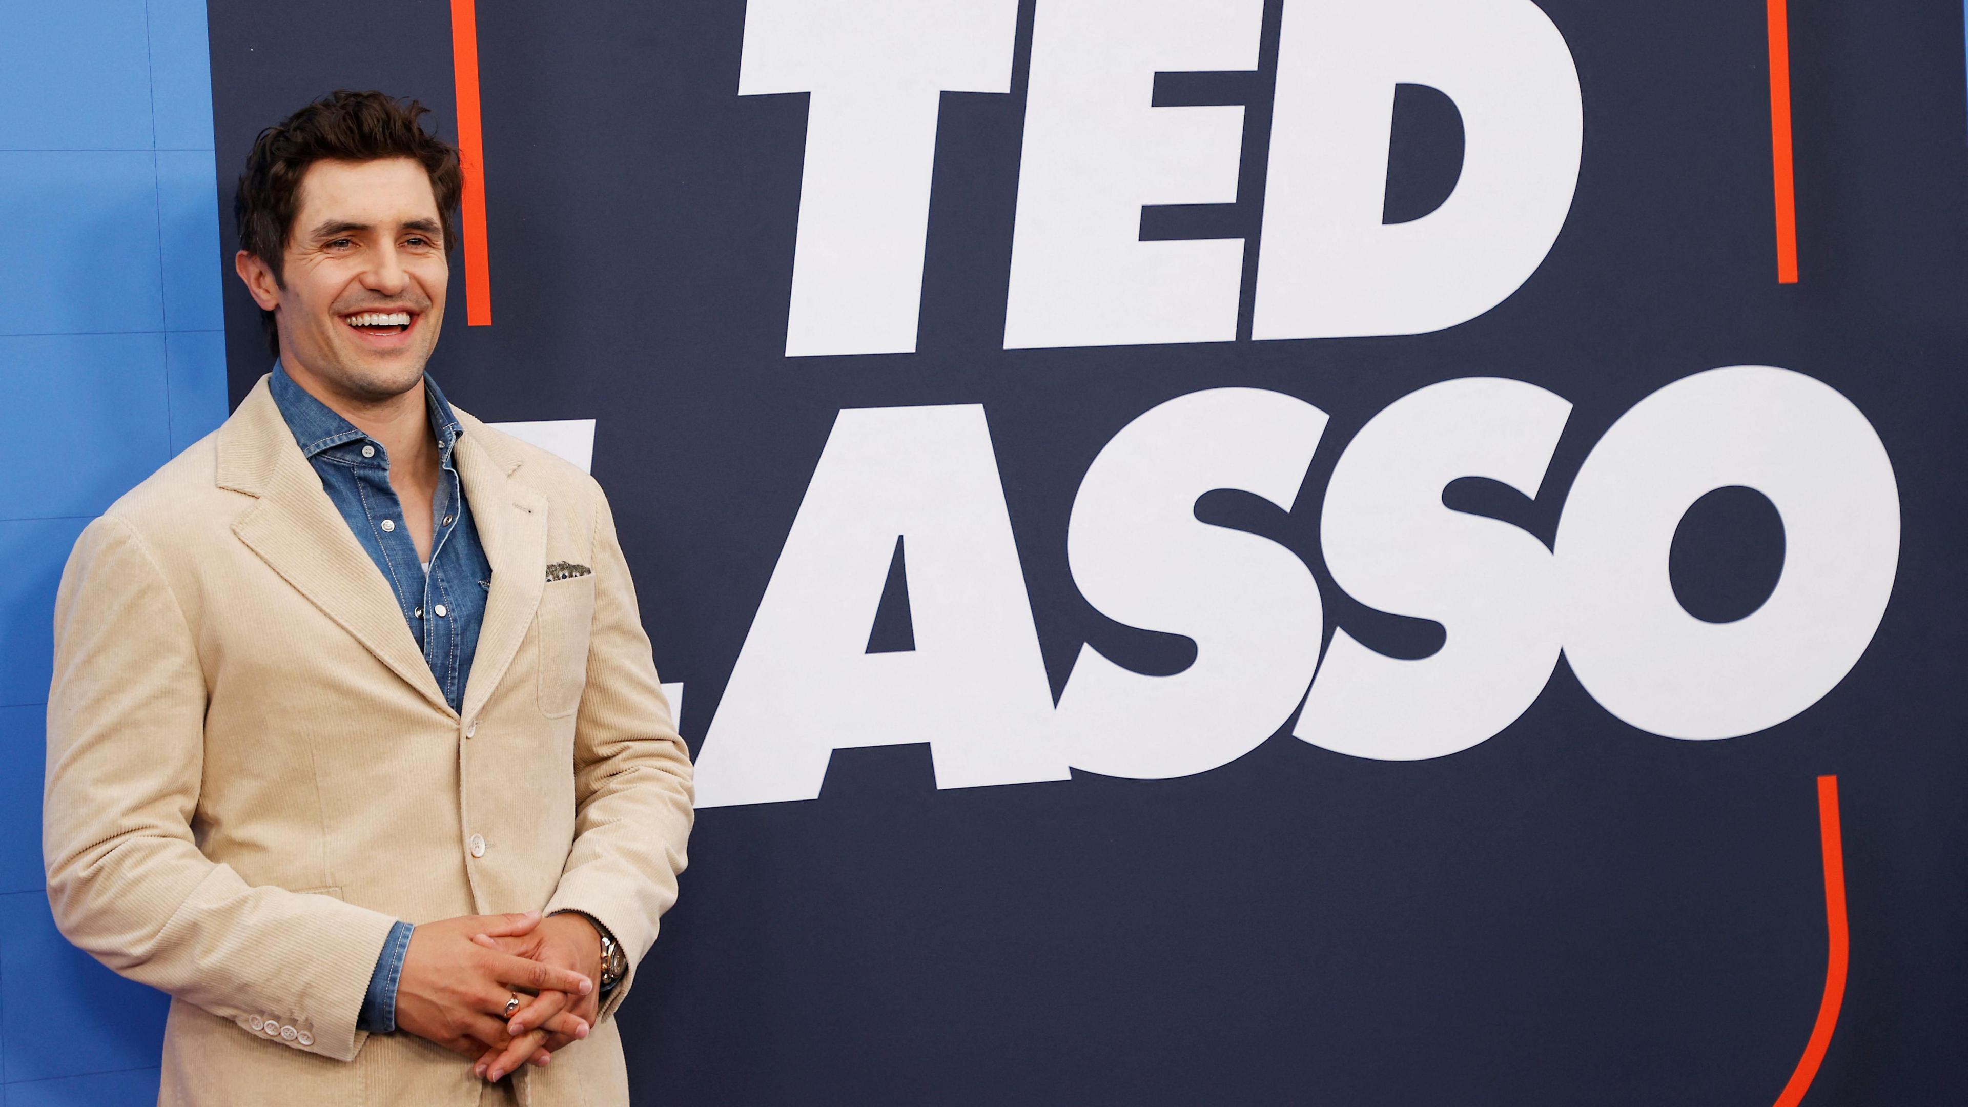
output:
<instances>
[{"instance_id":1,"label":"second white letter S in LASSO, touching the O","mask_svg":"<svg viewBox=\"0 0 1968 1107\"><path fill-rule=\"evenodd\" d=\"M1446 756L1537 699L1563 632L1551 552L1507 522L1448 510L1443 488L1488 477L1535 498L1570 408L1521 380L1445 380L1346 445L1319 524L1326 569L1360 603L1435 619L1446 638L1401 660L1334 632L1293 735L1378 760Z\"/></svg>"}]
</instances>

